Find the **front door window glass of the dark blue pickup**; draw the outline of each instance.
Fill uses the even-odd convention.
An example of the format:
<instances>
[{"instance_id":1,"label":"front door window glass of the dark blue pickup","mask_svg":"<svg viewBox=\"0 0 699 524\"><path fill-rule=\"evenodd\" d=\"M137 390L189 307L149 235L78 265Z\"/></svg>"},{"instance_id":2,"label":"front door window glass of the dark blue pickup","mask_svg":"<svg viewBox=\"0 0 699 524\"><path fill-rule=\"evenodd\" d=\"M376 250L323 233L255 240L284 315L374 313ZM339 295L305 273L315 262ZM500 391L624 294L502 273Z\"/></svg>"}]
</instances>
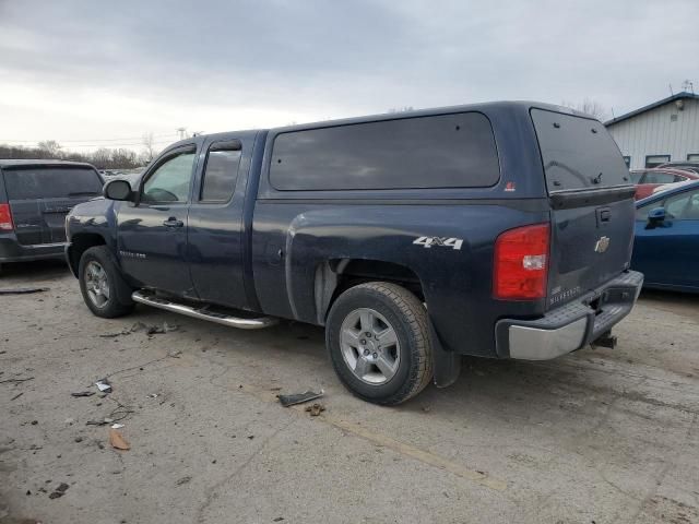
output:
<instances>
[{"instance_id":1,"label":"front door window glass of the dark blue pickup","mask_svg":"<svg viewBox=\"0 0 699 524\"><path fill-rule=\"evenodd\" d=\"M161 165L143 184L142 202L180 202L189 199L194 153L182 153Z\"/></svg>"}]
</instances>

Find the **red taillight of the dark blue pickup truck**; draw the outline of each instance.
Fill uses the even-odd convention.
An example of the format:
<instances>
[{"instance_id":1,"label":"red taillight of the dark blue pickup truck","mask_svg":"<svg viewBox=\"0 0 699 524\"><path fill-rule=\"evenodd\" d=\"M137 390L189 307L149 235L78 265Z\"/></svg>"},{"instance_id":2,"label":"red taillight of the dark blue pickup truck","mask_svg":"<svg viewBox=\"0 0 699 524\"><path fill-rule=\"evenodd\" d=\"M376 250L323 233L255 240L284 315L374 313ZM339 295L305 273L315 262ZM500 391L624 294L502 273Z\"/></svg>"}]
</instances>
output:
<instances>
[{"instance_id":1,"label":"red taillight of the dark blue pickup truck","mask_svg":"<svg viewBox=\"0 0 699 524\"><path fill-rule=\"evenodd\" d=\"M493 295L506 300L533 300L546 296L548 224L518 227L495 241Z\"/></svg>"}]
</instances>

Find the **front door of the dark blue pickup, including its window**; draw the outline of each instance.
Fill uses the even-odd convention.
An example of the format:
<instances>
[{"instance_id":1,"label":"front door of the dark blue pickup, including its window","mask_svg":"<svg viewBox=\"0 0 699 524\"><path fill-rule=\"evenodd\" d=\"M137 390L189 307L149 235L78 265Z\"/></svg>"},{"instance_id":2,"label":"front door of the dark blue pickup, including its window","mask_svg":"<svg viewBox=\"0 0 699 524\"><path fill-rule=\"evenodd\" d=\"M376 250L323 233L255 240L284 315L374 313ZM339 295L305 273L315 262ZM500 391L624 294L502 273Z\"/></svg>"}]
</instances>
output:
<instances>
[{"instance_id":1,"label":"front door of the dark blue pickup, including its window","mask_svg":"<svg viewBox=\"0 0 699 524\"><path fill-rule=\"evenodd\" d=\"M187 223L197 146L178 147L145 175L135 203L117 212L118 255L125 273L142 287L192 297L187 263Z\"/></svg>"}]
</instances>

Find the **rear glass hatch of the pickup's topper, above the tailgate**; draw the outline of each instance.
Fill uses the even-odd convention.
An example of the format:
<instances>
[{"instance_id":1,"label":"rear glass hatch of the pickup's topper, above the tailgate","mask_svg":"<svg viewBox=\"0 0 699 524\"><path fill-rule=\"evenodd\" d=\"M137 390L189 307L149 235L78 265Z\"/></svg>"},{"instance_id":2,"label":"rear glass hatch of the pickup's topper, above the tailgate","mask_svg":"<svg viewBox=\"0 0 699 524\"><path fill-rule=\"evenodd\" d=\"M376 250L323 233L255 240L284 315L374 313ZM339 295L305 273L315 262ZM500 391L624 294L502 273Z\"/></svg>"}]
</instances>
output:
<instances>
[{"instance_id":1,"label":"rear glass hatch of the pickup's topper, above the tailgate","mask_svg":"<svg viewBox=\"0 0 699 524\"><path fill-rule=\"evenodd\" d=\"M545 109L530 111L548 193L631 183L614 139L597 120Z\"/></svg>"}]
</instances>

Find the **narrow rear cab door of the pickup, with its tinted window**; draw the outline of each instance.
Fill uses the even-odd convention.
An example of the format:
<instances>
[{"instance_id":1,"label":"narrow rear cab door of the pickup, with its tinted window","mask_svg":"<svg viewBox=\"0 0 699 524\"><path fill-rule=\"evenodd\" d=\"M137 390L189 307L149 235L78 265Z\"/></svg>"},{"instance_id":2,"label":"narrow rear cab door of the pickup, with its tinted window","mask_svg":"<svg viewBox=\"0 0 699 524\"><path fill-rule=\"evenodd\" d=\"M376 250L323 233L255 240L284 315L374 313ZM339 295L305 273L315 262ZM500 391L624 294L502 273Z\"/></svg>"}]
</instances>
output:
<instances>
[{"instance_id":1,"label":"narrow rear cab door of the pickup, with its tinted window","mask_svg":"<svg viewBox=\"0 0 699 524\"><path fill-rule=\"evenodd\" d=\"M203 164L189 212L188 259L201 300L247 309L242 210L253 136L216 135Z\"/></svg>"}]
</instances>

